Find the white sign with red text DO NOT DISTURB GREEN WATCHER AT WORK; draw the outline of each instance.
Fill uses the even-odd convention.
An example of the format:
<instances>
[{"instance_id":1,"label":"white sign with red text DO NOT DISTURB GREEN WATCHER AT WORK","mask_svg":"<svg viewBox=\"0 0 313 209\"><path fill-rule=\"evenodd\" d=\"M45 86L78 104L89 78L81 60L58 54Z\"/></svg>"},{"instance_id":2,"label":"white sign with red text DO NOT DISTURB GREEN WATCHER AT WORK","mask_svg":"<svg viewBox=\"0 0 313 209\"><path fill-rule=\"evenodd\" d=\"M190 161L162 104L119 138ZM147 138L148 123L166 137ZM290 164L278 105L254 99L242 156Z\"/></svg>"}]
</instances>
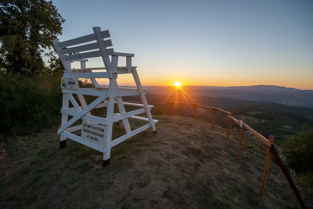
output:
<instances>
[{"instance_id":1,"label":"white sign with red text DO NOT DISTURB GREEN WATCHER AT WORK","mask_svg":"<svg viewBox=\"0 0 313 209\"><path fill-rule=\"evenodd\" d=\"M81 138L105 146L106 144L106 127L95 123L88 123L83 120L81 126Z\"/></svg>"}]
</instances>

